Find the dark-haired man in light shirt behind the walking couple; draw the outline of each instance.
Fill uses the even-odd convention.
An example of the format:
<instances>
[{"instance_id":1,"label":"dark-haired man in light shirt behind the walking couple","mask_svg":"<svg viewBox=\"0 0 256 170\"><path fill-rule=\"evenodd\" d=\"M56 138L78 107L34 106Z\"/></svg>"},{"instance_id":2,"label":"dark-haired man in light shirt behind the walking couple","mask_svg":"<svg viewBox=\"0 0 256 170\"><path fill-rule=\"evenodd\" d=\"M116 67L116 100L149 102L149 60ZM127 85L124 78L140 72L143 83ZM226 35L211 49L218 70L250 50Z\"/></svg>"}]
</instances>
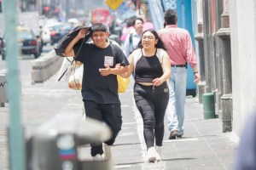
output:
<instances>
[{"instance_id":1,"label":"dark-haired man in light shirt behind the walking couple","mask_svg":"<svg viewBox=\"0 0 256 170\"><path fill-rule=\"evenodd\" d=\"M143 19L137 18L133 20L132 26L135 28L135 32L132 32L130 35L125 38L125 54L128 58L131 51L134 48L137 48L138 42L140 42L143 35Z\"/></svg>"}]
</instances>

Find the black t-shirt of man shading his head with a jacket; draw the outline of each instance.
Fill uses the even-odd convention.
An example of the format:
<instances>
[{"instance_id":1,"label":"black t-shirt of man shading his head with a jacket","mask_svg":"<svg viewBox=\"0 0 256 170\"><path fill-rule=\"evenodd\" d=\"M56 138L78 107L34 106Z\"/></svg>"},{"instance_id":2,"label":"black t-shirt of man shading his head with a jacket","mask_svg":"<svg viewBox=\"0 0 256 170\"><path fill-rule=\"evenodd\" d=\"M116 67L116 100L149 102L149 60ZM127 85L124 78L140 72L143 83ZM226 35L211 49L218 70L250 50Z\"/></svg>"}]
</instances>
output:
<instances>
[{"instance_id":1,"label":"black t-shirt of man shading his head with a jacket","mask_svg":"<svg viewBox=\"0 0 256 170\"><path fill-rule=\"evenodd\" d=\"M77 55L79 46L74 46L74 54ZM116 45L109 44L107 48L98 48L94 44L84 43L76 60L84 64L84 75L82 84L83 99L92 100L100 104L120 103L118 95L117 76L110 74L102 76L99 69L104 66L105 56L113 59L114 68L116 64L129 65L123 51ZM113 58L111 58L113 57Z\"/></svg>"}]
</instances>

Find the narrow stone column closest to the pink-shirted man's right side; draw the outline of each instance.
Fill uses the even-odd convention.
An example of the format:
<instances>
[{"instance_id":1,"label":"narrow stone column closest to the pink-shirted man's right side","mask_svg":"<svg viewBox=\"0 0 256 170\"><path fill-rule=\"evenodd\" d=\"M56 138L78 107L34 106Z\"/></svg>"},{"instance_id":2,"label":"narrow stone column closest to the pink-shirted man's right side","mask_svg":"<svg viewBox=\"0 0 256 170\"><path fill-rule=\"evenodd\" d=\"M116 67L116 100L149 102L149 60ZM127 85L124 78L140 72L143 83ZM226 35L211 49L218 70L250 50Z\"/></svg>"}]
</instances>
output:
<instances>
[{"instance_id":1,"label":"narrow stone column closest to the pink-shirted man's right side","mask_svg":"<svg viewBox=\"0 0 256 170\"><path fill-rule=\"evenodd\" d=\"M206 71L205 71L205 55L204 55L204 33L202 23L202 0L197 1L197 16L198 16L198 33L195 35L195 40L198 41L199 62L201 82L198 83L198 102L202 104L202 94L206 93Z\"/></svg>"}]
</instances>

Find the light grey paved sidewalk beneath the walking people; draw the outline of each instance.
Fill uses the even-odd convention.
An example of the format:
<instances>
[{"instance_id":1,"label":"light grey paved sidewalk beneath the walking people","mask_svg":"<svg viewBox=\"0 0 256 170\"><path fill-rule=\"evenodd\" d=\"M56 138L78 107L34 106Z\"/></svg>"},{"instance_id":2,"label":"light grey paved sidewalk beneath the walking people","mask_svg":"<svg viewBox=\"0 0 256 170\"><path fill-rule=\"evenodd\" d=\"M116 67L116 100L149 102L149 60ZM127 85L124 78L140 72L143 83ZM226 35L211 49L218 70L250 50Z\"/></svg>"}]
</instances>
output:
<instances>
[{"instance_id":1,"label":"light grey paved sidewalk beneath the walking people","mask_svg":"<svg viewBox=\"0 0 256 170\"><path fill-rule=\"evenodd\" d=\"M58 113L82 116L83 102L80 91L67 88L66 82L55 82L55 77L36 85L22 87L22 119L25 136L32 135L39 125ZM115 169L232 169L235 143L230 142L230 133L222 133L218 119L204 120L202 105L188 97L185 105L183 139L169 140L166 132L163 146L163 161L145 161L146 145L143 139L143 121L134 105L133 79L125 94L120 94L123 126L113 145ZM0 169L9 169L6 127L9 122L8 107L0 108ZM92 160L89 145L79 147L81 160Z\"/></svg>"}]
</instances>

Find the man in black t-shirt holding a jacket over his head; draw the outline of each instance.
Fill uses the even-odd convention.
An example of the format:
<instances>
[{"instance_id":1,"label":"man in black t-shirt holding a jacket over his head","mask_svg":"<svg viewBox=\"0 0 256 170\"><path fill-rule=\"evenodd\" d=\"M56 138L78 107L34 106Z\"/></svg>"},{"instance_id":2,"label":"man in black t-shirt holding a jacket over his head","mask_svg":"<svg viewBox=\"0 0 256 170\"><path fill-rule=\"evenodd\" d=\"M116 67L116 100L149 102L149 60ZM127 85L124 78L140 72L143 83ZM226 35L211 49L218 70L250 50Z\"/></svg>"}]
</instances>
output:
<instances>
[{"instance_id":1,"label":"man in black t-shirt holding a jacket over his head","mask_svg":"<svg viewBox=\"0 0 256 170\"><path fill-rule=\"evenodd\" d=\"M91 26L91 31L90 38L94 43L84 43L79 52L80 45L75 44L85 37L86 29L82 29L67 45L65 53L70 57L78 55L76 60L84 64L81 91L84 109L86 116L104 121L111 128L113 137L103 145L105 158L111 159L111 146L122 125L116 75L125 73L129 62L118 46L106 42L106 26L96 23ZM121 68L114 68L116 64ZM102 161L102 144L91 144L90 154L94 161Z\"/></svg>"}]
</instances>

